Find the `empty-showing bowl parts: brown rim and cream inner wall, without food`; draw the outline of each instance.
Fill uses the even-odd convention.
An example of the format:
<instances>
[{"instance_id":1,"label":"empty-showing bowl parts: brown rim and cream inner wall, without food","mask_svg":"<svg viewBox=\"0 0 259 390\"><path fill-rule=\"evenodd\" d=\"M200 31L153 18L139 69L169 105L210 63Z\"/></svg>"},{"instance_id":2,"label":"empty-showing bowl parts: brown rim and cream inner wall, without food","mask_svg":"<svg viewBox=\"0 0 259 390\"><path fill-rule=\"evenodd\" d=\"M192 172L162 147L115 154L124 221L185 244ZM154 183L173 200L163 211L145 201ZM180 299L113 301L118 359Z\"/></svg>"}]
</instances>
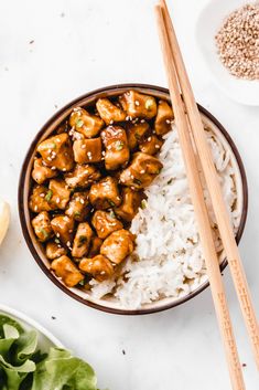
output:
<instances>
[{"instance_id":1,"label":"empty-showing bowl parts: brown rim and cream inner wall, without food","mask_svg":"<svg viewBox=\"0 0 259 390\"><path fill-rule=\"evenodd\" d=\"M40 265L42 271L46 274L46 276L57 287L60 287L63 292L65 292L67 295L72 296L73 298L96 309L107 312L107 313L112 313L112 314L139 315L139 314L150 314L150 313L161 312L161 310L165 310L165 309L175 307L177 305L181 305L186 301L193 298L197 294L199 294L206 287L208 287L208 282L205 281L201 286L198 286L196 289L194 289L193 292L191 292L185 296L177 297L177 298L164 298L157 303L144 305L138 309L128 309L127 307L121 307L118 303L112 301L94 299L93 297L89 297L85 292L83 292L79 288L68 288L50 270L50 263L46 256L44 255L43 249L41 244L37 242L30 223L30 211L29 211L29 202L28 202L29 192L31 188L31 170L32 170L32 164L35 155L36 145L43 139L47 138L55 130L55 128L71 114L74 107L90 105L93 104L94 101L96 101L99 97L117 96L129 88L138 89L139 92L142 92L145 94L151 94L158 98L164 98L168 101L170 99L169 91L159 86L147 85L147 84L119 84L119 85L107 86L107 87L87 93L76 98L75 101L71 102L62 109L60 109L50 120L47 120L47 123L37 133L37 135L35 136L34 140L32 141L26 152L24 162L22 165L20 182L19 182L19 214L20 214L20 221L21 221L24 239L26 241L26 244L34 260L37 262L37 264ZM233 139L225 130L225 128L205 108L203 108L202 106L198 106L198 108L203 116L203 119L213 128L213 130L217 133L218 137L220 137L220 140L225 143L226 146L228 146L229 152L231 154L231 159L233 159L231 161L235 166L234 168L237 177L236 186L237 186L237 192L238 192L238 202L241 211L240 223L236 234L236 241L238 243L241 239L244 228L246 224L247 207L248 207L248 187L247 187L244 165ZM224 270L226 265L227 265L227 261L226 259L225 260L223 259L220 264L222 270Z\"/></svg>"}]
</instances>

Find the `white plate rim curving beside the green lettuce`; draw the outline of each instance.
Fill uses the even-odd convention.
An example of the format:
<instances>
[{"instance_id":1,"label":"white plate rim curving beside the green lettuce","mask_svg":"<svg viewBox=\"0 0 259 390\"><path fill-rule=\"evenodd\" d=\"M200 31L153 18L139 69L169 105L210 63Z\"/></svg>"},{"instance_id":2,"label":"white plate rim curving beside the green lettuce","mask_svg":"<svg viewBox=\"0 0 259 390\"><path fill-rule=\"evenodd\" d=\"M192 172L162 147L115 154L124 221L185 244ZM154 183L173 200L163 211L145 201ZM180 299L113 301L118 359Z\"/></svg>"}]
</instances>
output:
<instances>
[{"instance_id":1,"label":"white plate rim curving beside the green lettuce","mask_svg":"<svg viewBox=\"0 0 259 390\"><path fill-rule=\"evenodd\" d=\"M42 352L47 352L51 347L64 348L55 336L24 314L3 305L0 305L0 314L15 319L19 324L21 324L24 330L35 329L39 335L39 349L41 349Z\"/></svg>"}]
</instances>

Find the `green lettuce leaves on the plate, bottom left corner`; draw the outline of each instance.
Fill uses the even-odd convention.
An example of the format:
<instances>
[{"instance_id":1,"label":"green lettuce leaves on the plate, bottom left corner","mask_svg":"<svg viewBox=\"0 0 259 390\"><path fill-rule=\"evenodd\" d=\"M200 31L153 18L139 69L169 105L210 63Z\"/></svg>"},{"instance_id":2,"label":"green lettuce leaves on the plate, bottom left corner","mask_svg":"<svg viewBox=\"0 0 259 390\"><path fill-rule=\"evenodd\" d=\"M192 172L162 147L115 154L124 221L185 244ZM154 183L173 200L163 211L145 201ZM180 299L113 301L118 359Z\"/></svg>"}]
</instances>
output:
<instances>
[{"instance_id":1,"label":"green lettuce leaves on the plate, bottom left corner","mask_svg":"<svg viewBox=\"0 0 259 390\"><path fill-rule=\"evenodd\" d=\"M65 349L42 354L36 331L0 315L0 390L97 390L93 368Z\"/></svg>"}]
</instances>

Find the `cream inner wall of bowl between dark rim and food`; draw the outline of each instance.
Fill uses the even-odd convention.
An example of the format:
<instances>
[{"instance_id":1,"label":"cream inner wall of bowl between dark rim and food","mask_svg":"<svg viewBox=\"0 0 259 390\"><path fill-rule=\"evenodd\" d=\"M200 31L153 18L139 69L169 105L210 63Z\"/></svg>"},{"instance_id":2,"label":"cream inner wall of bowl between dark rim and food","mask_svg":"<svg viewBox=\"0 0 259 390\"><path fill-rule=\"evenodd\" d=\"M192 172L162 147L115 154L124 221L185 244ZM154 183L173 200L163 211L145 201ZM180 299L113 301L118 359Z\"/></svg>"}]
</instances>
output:
<instances>
[{"instance_id":1,"label":"cream inner wall of bowl between dark rim and food","mask_svg":"<svg viewBox=\"0 0 259 390\"><path fill-rule=\"evenodd\" d=\"M60 116L60 118L58 118L58 123L62 123L71 114L72 109L74 107L76 107L76 106L89 105L90 103L95 102L96 98L98 98L100 96L106 96L106 95L107 96L117 96L119 94L122 94L127 89L129 89L129 87L126 87L126 88L120 87L120 88L109 89L106 93L100 93L100 94L98 94L98 96L95 95L95 96L88 96L87 98L83 98L82 101L76 102L76 104L72 105L69 108L64 110L62 113L62 115ZM157 89L147 88L147 87L145 88L136 87L136 89L138 89L139 92L142 92L142 93L145 93L145 94L154 95L154 96L157 96L159 98L169 99L169 96L168 96L168 94L165 92L159 92ZM241 173L240 173L239 166L238 166L237 159L235 157L235 154L234 154L229 143L227 141L227 139L225 138L223 133L219 130L219 128L207 116L205 116L204 114L202 114L202 118L203 118L204 124L207 125L207 127L209 127L212 129L212 131L214 131L216 137L222 141L224 148L226 150L228 150L228 152L229 152L231 166L233 166L234 171L235 171L235 180L236 180L236 190L237 190L237 205L236 207L240 211L240 214L241 214L242 207L244 207L242 180L241 180ZM57 125L57 122L55 124L50 125L47 130L40 138L39 143L41 140L47 138L50 136L50 134L56 128L56 125ZM26 176L25 176L23 209L24 209L25 219L28 221L28 231L29 231L31 241L33 243L34 250L36 251L39 257L42 260L42 263L45 266L45 268L48 270L48 272L51 272L50 271L50 262L48 262L48 260L45 256L43 247L41 245L39 245L39 243L37 243L37 241L35 239L33 229L32 229L31 223L30 223L30 212L29 212L29 208L28 208L28 199L29 199L30 186L28 186L28 183L30 182L30 176L31 176L31 169L32 169L32 164L33 164L33 157L34 157L34 154L32 154L32 156L31 156L31 159L30 159L30 162L29 162L29 167L28 167L28 170L26 170ZM224 254L222 254L222 256L220 256L220 261L223 261L223 260L224 260ZM52 272L52 274L54 275L54 277L56 277L53 272ZM90 302L93 304L102 306L102 307L111 309L111 310L112 309L119 309L119 310L125 310L125 313L127 313L129 310L136 310L134 307L132 307L132 308L128 307L128 306L123 307L121 305L121 303L119 303L117 299L115 299L112 297L101 298L101 299L93 298L93 296L89 293L87 293L87 292L85 292L83 289L76 288L76 287L68 288L68 287L66 287L64 285L63 281L61 278L56 277L56 280L58 281L58 283L61 285L63 285L66 289L69 289L71 292L73 292L74 295L78 296L80 299ZM201 284L201 286L197 287L197 289L194 289L192 292L192 294L195 293L196 291L202 289L206 283L207 283L207 278L205 278L203 284ZM145 309L147 310L150 310L150 309L159 310L162 307L169 306L172 303L177 304L177 302L182 301L184 296L186 296L186 295L182 295L182 296L179 296L179 297L163 298L163 299L160 299L158 302L153 302L152 304L145 304L145 305L142 305L139 310L140 312L143 310L143 309L144 310Z\"/></svg>"}]
</instances>

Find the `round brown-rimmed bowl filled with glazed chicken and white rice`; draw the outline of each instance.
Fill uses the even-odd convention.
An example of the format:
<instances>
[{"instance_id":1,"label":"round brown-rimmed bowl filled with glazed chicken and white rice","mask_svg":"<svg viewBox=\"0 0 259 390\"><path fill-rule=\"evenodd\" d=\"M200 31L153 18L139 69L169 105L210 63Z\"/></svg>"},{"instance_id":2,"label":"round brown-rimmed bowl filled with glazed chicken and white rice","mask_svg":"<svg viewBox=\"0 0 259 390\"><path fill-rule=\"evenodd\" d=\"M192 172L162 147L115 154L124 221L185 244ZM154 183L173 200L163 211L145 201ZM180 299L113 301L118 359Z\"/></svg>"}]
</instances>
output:
<instances>
[{"instance_id":1,"label":"round brown-rimmed bowl filled with glazed chicken and white rice","mask_svg":"<svg viewBox=\"0 0 259 390\"><path fill-rule=\"evenodd\" d=\"M198 109L239 242L248 202L244 166L224 127ZM204 193L223 270L227 262ZM44 274L85 305L149 314L208 286L174 107L160 86L104 87L56 113L25 156L19 212Z\"/></svg>"}]
</instances>

